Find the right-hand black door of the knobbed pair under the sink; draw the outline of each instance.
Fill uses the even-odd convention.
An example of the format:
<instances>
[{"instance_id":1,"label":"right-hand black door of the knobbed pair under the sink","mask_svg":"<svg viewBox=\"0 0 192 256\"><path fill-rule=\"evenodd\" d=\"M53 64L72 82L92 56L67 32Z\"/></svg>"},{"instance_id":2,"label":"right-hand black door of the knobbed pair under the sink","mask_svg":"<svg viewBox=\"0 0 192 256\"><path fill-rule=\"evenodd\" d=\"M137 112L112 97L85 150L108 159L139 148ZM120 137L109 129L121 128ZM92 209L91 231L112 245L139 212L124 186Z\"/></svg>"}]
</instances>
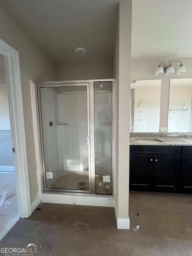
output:
<instances>
[{"instance_id":1,"label":"right-hand black door of the knobbed pair under the sink","mask_svg":"<svg viewBox=\"0 0 192 256\"><path fill-rule=\"evenodd\" d=\"M153 190L179 191L179 156L153 157Z\"/></svg>"}]
</instances>

